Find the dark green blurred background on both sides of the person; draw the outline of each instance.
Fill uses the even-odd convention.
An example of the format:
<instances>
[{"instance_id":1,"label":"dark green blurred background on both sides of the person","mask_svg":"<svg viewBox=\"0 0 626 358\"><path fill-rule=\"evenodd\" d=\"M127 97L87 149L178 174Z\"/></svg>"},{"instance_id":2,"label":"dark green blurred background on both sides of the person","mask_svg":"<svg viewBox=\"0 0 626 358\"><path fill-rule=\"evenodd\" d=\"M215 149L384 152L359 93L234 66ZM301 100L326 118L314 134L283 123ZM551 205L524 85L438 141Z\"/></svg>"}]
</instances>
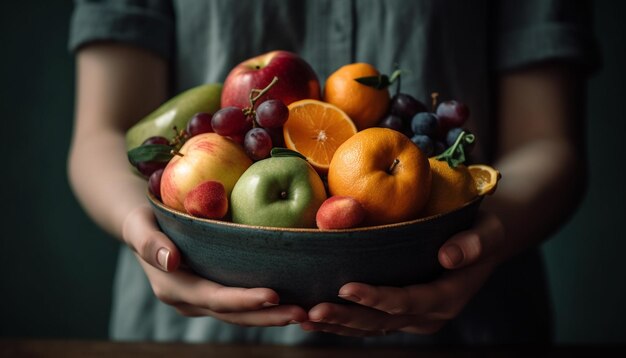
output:
<instances>
[{"instance_id":1,"label":"dark green blurred background on both sides of the person","mask_svg":"<svg viewBox=\"0 0 626 358\"><path fill-rule=\"evenodd\" d=\"M54 3L54 5L52 5ZM626 3L594 3L604 67L590 82L591 184L545 245L560 343L626 343ZM66 178L74 62L70 1L14 1L0 21L0 337L104 338L117 243Z\"/></svg>"}]
</instances>

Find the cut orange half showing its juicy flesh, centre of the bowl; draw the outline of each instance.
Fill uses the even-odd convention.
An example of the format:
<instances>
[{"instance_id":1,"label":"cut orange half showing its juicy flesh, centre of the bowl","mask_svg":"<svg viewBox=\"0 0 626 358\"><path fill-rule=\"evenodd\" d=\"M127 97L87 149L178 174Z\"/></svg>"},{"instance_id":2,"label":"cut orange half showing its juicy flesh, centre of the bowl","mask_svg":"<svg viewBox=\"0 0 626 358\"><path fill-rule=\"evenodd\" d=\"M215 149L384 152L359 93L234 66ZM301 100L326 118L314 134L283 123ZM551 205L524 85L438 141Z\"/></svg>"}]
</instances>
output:
<instances>
[{"instance_id":1,"label":"cut orange half showing its juicy flesh, centre of the bowl","mask_svg":"<svg viewBox=\"0 0 626 358\"><path fill-rule=\"evenodd\" d=\"M303 99L288 108L285 146L304 155L318 173L326 174L335 150L357 132L356 126L341 109L318 100Z\"/></svg>"}]
</instances>

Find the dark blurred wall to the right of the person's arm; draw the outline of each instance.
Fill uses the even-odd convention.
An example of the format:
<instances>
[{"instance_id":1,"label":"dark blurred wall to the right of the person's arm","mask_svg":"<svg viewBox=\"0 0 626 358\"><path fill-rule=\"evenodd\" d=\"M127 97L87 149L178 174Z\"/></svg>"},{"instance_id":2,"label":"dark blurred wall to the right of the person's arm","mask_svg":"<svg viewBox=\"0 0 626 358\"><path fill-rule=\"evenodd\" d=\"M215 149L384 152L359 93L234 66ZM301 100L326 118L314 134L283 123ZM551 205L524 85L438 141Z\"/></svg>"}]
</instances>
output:
<instances>
[{"instance_id":1,"label":"dark blurred wall to the right of the person's arm","mask_svg":"<svg viewBox=\"0 0 626 358\"><path fill-rule=\"evenodd\" d=\"M571 222L545 244L557 338L626 342L626 268L622 253L626 170L626 2L594 2L603 68L589 83L590 186Z\"/></svg>"}]
</instances>

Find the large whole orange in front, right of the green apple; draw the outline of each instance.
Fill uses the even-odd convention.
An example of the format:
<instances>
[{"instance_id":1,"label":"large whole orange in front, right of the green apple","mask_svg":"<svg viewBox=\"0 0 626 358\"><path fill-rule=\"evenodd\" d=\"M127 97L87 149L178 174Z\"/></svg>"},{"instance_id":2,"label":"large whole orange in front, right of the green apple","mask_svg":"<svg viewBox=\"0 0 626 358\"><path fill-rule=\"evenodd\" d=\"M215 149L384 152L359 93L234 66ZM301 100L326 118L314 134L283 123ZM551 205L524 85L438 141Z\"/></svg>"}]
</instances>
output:
<instances>
[{"instance_id":1,"label":"large whole orange in front, right of the green apple","mask_svg":"<svg viewBox=\"0 0 626 358\"><path fill-rule=\"evenodd\" d=\"M416 218L430 192L430 165L404 134L368 128L346 140L328 170L331 195L351 196L363 205L366 225Z\"/></svg>"}]
</instances>

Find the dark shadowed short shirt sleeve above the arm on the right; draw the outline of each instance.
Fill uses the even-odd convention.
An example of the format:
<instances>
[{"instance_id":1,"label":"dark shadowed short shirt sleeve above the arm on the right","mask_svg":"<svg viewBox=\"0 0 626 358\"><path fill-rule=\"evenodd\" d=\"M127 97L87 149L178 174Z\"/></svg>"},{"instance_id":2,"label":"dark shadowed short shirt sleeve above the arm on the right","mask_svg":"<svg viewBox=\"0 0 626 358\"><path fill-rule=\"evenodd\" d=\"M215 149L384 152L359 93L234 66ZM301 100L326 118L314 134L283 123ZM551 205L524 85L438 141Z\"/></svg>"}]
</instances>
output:
<instances>
[{"instance_id":1,"label":"dark shadowed short shirt sleeve above the arm on the right","mask_svg":"<svg viewBox=\"0 0 626 358\"><path fill-rule=\"evenodd\" d=\"M494 7L498 70L555 60L581 65L588 72L600 67L587 1L500 0Z\"/></svg>"}]
</instances>

